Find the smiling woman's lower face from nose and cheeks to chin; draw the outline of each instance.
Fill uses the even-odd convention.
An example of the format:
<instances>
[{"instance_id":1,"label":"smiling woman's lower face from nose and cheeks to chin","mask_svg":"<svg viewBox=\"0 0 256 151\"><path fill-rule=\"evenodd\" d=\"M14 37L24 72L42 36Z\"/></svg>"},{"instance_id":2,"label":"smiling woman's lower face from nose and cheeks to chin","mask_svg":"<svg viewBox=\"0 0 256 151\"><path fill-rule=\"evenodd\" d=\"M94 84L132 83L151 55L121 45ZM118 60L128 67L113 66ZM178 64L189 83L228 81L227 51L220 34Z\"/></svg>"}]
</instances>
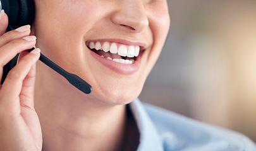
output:
<instances>
[{"instance_id":1,"label":"smiling woman's lower face from nose and cheeks to chin","mask_svg":"<svg viewBox=\"0 0 256 151\"><path fill-rule=\"evenodd\" d=\"M90 98L113 104L137 98L168 34L166 0L35 0L35 5L37 47L87 81L93 87ZM105 53L92 49L90 42L101 43L100 49L106 43L104 50L116 43L128 53L134 46L139 55L121 57L119 50L111 53L114 48ZM131 61L123 64L107 57Z\"/></svg>"}]
</instances>

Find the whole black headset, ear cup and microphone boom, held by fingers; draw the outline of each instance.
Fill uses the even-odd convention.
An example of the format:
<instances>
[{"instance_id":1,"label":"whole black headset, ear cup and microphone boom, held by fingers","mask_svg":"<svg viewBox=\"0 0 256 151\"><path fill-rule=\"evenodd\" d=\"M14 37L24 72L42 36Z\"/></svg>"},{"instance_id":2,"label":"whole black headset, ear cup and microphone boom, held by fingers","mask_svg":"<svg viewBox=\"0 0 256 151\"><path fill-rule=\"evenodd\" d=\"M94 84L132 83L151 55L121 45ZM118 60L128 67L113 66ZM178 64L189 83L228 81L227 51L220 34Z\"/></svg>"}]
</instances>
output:
<instances>
[{"instance_id":1,"label":"whole black headset, ear cup and microphone boom, held by fingers","mask_svg":"<svg viewBox=\"0 0 256 151\"><path fill-rule=\"evenodd\" d=\"M35 18L34 0L0 0L0 9L4 9L4 12L8 15L9 23L6 31L16 29L23 25L31 25ZM31 52L32 50L34 50L34 48L28 50L28 52ZM16 55L13 60L4 66L1 84L3 84L9 70L16 65L17 60L18 55ZM42 53L40 54L39 60L61 74L61 76L66 78L70 84L75 86L80 91L84 92L85 94L92 92L92 86L90 86L90 84L83 81L82 78L76 76L75 74L71 74L62 69Z\"/></svg>"}]
</instances>

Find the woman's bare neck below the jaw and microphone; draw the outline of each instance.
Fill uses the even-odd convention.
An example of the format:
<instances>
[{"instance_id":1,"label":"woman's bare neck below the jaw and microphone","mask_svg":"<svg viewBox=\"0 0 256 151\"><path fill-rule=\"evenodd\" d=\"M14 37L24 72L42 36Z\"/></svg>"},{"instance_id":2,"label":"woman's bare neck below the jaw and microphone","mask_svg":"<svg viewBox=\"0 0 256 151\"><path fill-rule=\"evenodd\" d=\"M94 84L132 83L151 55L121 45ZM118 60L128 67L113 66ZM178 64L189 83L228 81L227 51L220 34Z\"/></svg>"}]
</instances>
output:
<instances>
[{"instance_id":1,"label":"woman's bare neck below the jaw and microphone","mask_svg":"<svg viewBox=\"0 0 256 151\"><path fill-rule=\"evenodd\" d=\"M37 75L35 109L44 151L119 150L125 140L125 105L94 100L75 88L57 87L45 80L46 75Z\"/></svg>"}]
</instances>

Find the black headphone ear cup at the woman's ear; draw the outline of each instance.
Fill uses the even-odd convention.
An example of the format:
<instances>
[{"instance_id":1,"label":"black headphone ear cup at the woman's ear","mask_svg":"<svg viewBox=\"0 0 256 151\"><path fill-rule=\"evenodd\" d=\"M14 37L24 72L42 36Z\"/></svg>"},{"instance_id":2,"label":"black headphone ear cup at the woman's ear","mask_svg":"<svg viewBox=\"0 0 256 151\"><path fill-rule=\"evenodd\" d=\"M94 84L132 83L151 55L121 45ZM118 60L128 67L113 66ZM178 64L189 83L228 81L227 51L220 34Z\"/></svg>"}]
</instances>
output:
<instances>
[{"instance_id":1,"label":"black headphone ear cup at the woman's ear","mask_svg":"<svg viewBox=\"0 0 256 151\"><path fill-rule=\"evenodd\" d=\"M9 18L9 28L31 25L35 17L34 0L0 0Z\"/></svg>"}]
</instances>

